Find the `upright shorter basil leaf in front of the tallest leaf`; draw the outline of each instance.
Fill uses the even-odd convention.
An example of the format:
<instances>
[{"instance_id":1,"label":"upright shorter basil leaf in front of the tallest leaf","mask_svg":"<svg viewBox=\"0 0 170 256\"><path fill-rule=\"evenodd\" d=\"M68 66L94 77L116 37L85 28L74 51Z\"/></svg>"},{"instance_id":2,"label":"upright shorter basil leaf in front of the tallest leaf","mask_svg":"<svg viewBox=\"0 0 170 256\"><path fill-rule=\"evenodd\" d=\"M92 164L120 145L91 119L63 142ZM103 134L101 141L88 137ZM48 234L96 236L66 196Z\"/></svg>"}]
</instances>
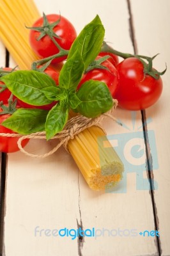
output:
<instances>
[{"instance_id":1,"label":"upright shorter basil leaf in front of the tallest leaf","mask_svg":"<svg viewBox=\"0 0 170 256\"><path fill-rule=\"evenodd\" d=\"M63 88L77 88L84 72L84 63L79 51L74 52L66 61L59 74L59 86Z\"/></svg>"}]
</instances>

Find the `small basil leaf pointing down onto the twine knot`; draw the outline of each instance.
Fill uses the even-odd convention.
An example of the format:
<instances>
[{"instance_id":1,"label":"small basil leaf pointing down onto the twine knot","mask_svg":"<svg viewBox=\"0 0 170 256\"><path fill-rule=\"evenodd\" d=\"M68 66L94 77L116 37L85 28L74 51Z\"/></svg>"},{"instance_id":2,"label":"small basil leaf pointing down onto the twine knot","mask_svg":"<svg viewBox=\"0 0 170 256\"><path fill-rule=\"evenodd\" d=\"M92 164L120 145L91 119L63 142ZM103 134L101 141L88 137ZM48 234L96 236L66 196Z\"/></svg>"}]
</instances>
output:
<instances>
[{"instance_id":1,"label":"small basil leaf pointing down onto the twine knot","mask_svg":"<svg viewBox=\"0 0 170 256\"><path fill-rule=\"evenodd\" d=\"M63 130L68 120L68 108L65 105L56 104L50 109L45 123L46 138L49 140L56 133Z\"/></svg>"}]
</instances>

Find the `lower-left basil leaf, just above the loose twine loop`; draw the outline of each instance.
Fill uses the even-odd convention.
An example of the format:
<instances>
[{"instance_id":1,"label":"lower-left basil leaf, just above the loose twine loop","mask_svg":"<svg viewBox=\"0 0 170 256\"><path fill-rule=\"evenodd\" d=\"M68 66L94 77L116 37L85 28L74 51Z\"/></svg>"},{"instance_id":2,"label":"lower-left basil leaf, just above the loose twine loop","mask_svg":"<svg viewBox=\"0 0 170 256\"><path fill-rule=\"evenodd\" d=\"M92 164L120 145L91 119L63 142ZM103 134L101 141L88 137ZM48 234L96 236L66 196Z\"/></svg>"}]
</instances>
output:
<instances>
[{"instance_id":1,"label":"lower-left basil leaf, just above the loose twine loop","mask_svg":"<svg viewBox=\"0 0 170 256\"><path fill-rule=\"evenodd\" d=\"M45 131L45 120L49 111L19 108L2 125L20 134Z\"/></svg>"}]
</instances>

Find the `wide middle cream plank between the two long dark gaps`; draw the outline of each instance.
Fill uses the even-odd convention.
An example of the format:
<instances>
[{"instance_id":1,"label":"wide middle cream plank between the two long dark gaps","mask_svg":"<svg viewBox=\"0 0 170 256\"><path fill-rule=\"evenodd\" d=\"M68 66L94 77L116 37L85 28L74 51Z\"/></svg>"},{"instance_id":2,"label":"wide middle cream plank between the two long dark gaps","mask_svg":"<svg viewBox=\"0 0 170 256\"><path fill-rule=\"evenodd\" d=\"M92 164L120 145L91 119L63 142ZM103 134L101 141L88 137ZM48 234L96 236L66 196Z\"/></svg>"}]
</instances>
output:
<instances>
[{"instance_id":1,"label":"wide middle cream plank between the two long dark gaps","mask_svg":"<svg viewBox=\"0 0 170 256\"><path fill-rule=\"evenodd\" d=\"M60 10L75 24L78 32L98 13L106 29L107 41L113 42L113 46L120 51L133 51L128 33L127 4L123 0L107 0L105 3L87 0L83 8L77 0L59 3L36 0L36 3L40 11L45 13ZM111 120L105 122L105 130L110 135L118 134L117 138L122 138L121 143L126 145L129 134L135 137L137 128L142 125L141 113L136 113L135 125L130 111L118 109L115 116L130 131ZM138 143L143 147L141 140ZM27 150L41 154L53 145L54 141L48 144L45 141L31 141ZM142 164L141 159L139 166ZM136 189L139 175L146 178L142 167L139 167L138 172L125 173L118 193L95 193L88 188L72 157L63 148L43 160L31 159L20 152L10 154L6 188L5 255L158 255L155 239L139 235L140 231L154 229L151 198L148 190L145 190L143 179L142 188ZM127 188L127 192L122 191L122 188ZM79 223L82 221L84 229L94 227L96 230L112 230L112 236L108 235L108 230L102 230L103 237L85 237L82 241L70 237L47 237L43 233L39 236L38 232L35 236L37 226L39 230L77 228L77 220ZM99 235L100 230L97 232ZM137 235L132 236L132 232Z\"/></svg>"}]
</instances>

